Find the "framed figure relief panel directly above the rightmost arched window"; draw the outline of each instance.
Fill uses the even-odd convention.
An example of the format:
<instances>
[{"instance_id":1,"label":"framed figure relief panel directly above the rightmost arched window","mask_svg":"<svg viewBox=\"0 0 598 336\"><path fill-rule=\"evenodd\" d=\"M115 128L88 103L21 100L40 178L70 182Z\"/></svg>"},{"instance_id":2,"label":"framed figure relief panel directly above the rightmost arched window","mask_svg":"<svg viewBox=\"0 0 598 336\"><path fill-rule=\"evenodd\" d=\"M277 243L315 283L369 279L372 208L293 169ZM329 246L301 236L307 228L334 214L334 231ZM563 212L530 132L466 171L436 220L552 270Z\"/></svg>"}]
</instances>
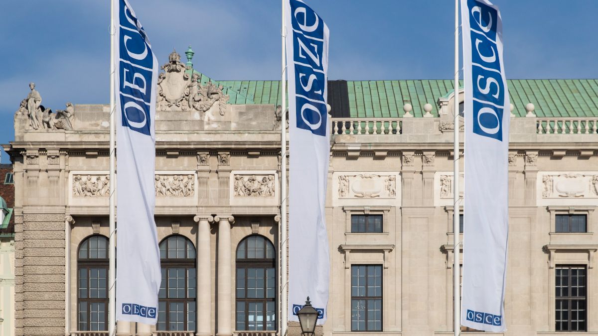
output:
<instances>
[{"instance_id":1,"label":"framed figure relief panel directly above the rightmost arched window","mask_svg":"<svg viewBox=\"0 0 598 336\"><path fill-rule=\"evenodd\" d=\"M233 170L230 173L231 205L277 205L278 173L274 170Z\"/></svg>"}]
</instances>

